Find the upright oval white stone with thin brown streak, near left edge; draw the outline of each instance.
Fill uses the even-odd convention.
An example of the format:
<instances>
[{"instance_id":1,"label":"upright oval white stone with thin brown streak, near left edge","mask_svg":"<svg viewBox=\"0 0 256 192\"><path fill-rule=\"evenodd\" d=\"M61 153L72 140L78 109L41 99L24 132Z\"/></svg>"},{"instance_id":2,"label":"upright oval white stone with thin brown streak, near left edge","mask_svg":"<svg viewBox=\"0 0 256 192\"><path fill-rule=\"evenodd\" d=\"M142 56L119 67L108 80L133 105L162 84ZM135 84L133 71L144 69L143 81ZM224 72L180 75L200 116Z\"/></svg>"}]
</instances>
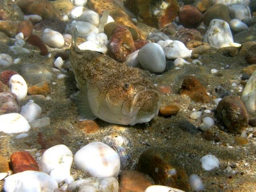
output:
<instances>
[{"instance_id":1,"label":"upright oval white stone with thin brown streak, near left edge","mask_svg":"<svg viewBox=\"0 0 256 192\"><path fill-rule=\"evenodd\" d=\"M28 86L26 81L19 74L15 74L9 81L11 92L16 94L18 99L21 100L26 97L28 93Z\"/></svg>"}]
</instances>

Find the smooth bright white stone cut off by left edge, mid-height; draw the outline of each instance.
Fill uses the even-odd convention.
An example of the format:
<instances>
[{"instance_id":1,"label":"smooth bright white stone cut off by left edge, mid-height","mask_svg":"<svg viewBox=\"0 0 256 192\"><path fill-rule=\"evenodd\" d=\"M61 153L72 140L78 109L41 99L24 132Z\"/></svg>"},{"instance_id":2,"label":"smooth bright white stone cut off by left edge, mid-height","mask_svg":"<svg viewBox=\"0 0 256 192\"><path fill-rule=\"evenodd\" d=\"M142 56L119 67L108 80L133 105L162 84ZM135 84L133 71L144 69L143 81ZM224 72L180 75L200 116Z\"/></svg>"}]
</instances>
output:
<instances>
[{"instance_id":1,"label":"smooth bright white stone cut off by left edge, mid-height","mask_svg":"<svg viewBox=\"0 0 256 192\"><path fill-rule=\"evenodd\" d=\"M18 113L0 115L0 131L5 133L20 133L30 129L28 121Z\"/></svg>"}]
</instances>

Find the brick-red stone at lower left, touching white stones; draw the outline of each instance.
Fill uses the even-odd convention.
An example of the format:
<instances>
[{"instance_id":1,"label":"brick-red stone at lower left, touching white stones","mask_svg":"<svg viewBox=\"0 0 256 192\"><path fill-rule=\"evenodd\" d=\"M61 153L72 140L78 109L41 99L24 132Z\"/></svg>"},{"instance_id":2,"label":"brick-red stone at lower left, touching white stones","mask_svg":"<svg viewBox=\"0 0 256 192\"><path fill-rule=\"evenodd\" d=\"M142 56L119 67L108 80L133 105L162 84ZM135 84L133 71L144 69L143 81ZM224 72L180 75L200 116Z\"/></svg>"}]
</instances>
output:
<instances>
[{"instance_id":1,"label":"brick-red stone at lower left, touching white stones","mask_svg":"<svg viewBox=\"0 0 256 192\"><path fill-rule=\"evenodd\" d=\"M36 160L26 151L13 153L11 156L11 166L14 173L28 170L39 171Z\"/></svg>"}]
</instances>

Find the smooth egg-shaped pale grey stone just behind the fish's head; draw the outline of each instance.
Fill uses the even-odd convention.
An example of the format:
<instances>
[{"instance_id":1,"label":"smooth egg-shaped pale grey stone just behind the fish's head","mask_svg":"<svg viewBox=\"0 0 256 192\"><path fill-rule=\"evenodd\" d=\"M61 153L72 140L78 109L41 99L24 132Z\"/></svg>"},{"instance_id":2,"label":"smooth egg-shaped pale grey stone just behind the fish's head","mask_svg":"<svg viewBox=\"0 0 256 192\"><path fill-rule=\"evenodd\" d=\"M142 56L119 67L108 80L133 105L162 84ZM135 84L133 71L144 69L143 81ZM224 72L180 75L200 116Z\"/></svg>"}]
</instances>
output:
<instances>
[{"instance_id":1,"label":"smooth egg-shaped pale grey stone just behind the fish's head","mask_svg":"<svg viewBox=\"0 0 256 192\"><path fill-rule=\"evenodd\" d=\"M150 71L161 73L166 68L166 58L162 47L157 43L148 43L138 52L140 65Z\"/></svg>"}]
</instances>

